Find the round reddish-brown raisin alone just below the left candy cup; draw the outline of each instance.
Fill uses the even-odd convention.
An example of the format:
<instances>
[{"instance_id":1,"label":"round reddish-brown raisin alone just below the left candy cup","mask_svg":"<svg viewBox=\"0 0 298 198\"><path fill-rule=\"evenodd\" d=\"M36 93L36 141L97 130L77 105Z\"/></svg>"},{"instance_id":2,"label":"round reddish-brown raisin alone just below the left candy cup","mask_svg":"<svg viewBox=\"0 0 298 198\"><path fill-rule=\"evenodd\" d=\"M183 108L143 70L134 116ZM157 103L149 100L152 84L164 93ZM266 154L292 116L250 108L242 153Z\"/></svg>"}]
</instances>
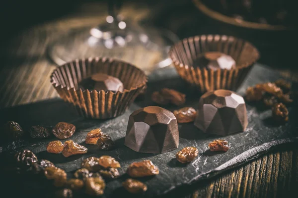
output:
<instances>
[{"instance_id":1,"label":"round reddish-brown raisin alone just below the left candy cup","mask_svg":"<svg viewBox=\"0 0 298 198\"><path fill-rule=\"evenodd\" d=\"M52 130L52 133L59 139L70 138L74 132L75 126L67 122L59 122Z\"/></svg>"}]
</instances>

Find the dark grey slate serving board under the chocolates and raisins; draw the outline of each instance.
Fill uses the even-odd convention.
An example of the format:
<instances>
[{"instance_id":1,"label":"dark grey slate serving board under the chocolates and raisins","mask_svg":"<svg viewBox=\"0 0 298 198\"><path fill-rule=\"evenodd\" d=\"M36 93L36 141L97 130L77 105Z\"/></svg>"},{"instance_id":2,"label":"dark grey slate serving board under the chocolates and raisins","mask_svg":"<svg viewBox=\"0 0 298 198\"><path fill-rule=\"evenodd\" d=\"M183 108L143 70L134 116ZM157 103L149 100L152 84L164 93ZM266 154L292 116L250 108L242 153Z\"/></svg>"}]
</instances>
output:
<instances>
[{"instance_id":1,"label":"dark grey slate serving board under the chocolates and raisins","mask_svg":"<svg viewBox=\"0 0 298 198\"><path fill-rule=\"evenodd\" d=\"M255 65L247 79L238 90L244 95L248 86L256 83L274 81L279 79L278 73L262 65ZM125 197L128 194L121 188L121 182L128 176L125 170L130 163L144 159L150 159L159 168L159 175L149 178L142 178L148 185L148 191L143 195L146 198L165 195L171 191L184 188L196 181L211 178L224 170L243 164L253 158L260 156L269 149L283 144L298 142L298 105L295 102L289 108L289 122L283 126L275 125L271 119L271 110L261 109L254 104L247 104L249 124L243 133L237 133L224 137L228 141L230 149L225 153L212 153L208 150L208 144L219 137L209 136L197 129L193 123L179 124L179 148L163 154L138 153L125 147L124 137L129 115L136 109L144 106L154 105L150 100L150 94L161 87L175 88L187 95L187 102L184 106L196 107L200 95L195 90L177 77L172 68L158 71L149 76L148 91L145 99L137 100L123 115L109 120L90 120L78 117L75 110L61 99L51 99L42 102L16 106L0 110L2 121L15 120L24 129L32 125L42 124L53 126L59 121L71 122L76 126L76 132L71 140L88 148L84 155L74 155L65 158L62 154L46 152L46 145L53 140L24 139L15 142L1 142L0 156L13 155L17 150L24 148L35 152L39 159L48 159L59 168L63 168L72 177L74 170L80 167L83 159L89 156L100 156L103 154L115 157L122 166L123 175L116 180L107 181L104 198ZM159 80L163 79L163 80ZM296 90L296 85L294 85ZM169 110L178 107L167 105L162 106ZM117 148L112 151L98 150L96 146L84 143L87 132L91 129L101 128L110 135L116 142ZM68 139L67 139L68 140ZM64 142L63 140L62 142ZM178 150L193 146L198 148L199 156L191 163L182 165L175 159ZM2 158L1 157L1 158ZM2 158L4 159L4 157ZM1 162L3 166L4 160ZM5 165L5 164L4 164ZM28 182L19 181L22 185ZM28 184L27 184L28 186ZM9 188L9 187L8 187ZM25 187L24 187L25 188ZM38 184L34 185L36 191L40 190Z\"/></svg>"}]
</instances>

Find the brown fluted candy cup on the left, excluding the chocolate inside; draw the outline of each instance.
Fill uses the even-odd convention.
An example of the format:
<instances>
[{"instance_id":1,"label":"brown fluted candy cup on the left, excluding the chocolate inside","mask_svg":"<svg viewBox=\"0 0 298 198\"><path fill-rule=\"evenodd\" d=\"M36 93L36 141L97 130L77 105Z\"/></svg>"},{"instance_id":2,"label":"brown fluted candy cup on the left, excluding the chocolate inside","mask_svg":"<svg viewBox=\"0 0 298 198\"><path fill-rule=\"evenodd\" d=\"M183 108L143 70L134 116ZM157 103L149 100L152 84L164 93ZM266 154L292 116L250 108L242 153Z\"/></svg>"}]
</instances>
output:
<instances>
[{"instance_id":1,"label":"brown fluted candy cup on the left, excluding the chocolate inside","mask_svg":"<svg viewBox=\"0 0 298 198\"><path fill-rule=\"evenodd\" d=\"M78 84L92 74L104 73L118 78L123 92L81 90ZM73 104L81 116L95 119L121 115L146 87L147 76L132 64L110 58L78 59L57 67L51 83L64 101Z\"/></svg>"}]
</instances>

